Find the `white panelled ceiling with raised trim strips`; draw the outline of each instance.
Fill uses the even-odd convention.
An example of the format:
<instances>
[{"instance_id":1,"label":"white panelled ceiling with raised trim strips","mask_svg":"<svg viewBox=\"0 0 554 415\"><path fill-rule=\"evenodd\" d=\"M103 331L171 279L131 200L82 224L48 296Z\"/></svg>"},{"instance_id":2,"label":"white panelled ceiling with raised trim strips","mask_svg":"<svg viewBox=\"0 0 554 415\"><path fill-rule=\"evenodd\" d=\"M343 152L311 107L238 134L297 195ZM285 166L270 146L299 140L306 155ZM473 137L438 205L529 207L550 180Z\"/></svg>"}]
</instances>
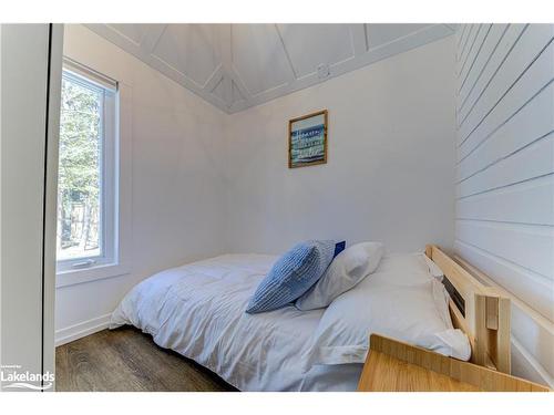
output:
<instances>
[{"instance_id":1,"label":"white panelled ceiling with raised trim strips","mask_svg":"<svg viewBox=\"0 0 554 415\"><path fill-rule=\"evenodd\" d=\"M88 24L227 113L453 33L448 24Z\"/></svg>"}]
</instances>

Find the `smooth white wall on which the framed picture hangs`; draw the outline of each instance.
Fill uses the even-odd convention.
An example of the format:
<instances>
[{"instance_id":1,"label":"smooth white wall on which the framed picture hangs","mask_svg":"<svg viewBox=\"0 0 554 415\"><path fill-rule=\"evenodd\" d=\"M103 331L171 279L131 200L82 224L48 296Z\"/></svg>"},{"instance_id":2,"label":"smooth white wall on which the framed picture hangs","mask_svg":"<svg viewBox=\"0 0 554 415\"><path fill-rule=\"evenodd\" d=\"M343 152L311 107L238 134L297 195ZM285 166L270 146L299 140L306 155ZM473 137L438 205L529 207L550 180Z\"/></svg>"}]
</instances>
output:
<instances>
[{"instance_id":1,"label":"smooth white wall on which the framed picture hangs","mask_svg":"<svg viewBox=\"0 0 554 415\"><path fill-rule=\"evenodd\" d=\"M437 41L228 118L233 251L301 239L453 242L454 39ZM329 111L328 163L289 169L288 120Z\"/></svg>"}]
</instances>

